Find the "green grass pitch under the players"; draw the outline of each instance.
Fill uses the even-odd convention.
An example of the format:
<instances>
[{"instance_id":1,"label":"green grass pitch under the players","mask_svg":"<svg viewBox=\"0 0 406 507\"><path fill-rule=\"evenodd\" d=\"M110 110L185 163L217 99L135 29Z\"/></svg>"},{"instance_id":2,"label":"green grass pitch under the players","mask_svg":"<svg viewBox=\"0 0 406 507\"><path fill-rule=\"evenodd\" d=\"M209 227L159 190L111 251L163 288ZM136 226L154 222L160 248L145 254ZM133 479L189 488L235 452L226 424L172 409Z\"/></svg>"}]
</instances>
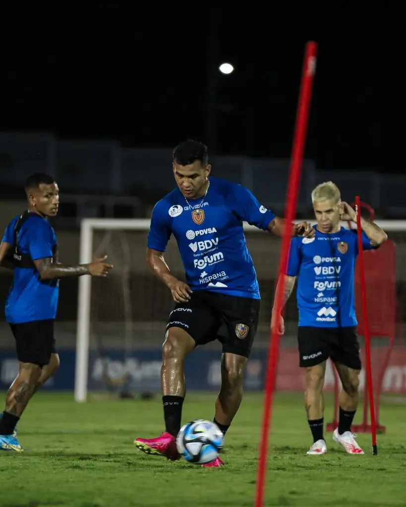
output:
<instances>
[{"instance_id":1,"label":"green grass pitch under the players","mask_svg":"<svg viewBox=\"0 0 406 507\"><path fill-rule=\"evenodd\" d=\"M215 393L189 393L184 421L213 416ZM331 414L330 405L327 413ZM387 432L360 434L364 456L350 456L327 433L328 453L311 444L301 395L278 394L270 438L265 505L389 507L406 504L405 411L382 406ZM225 441L226 466L208 469L147 456L135 437L162 431L159 398L75 404L72 395L40 392L19 424L24 454L0 453L3 507L210 507L254 504L262 396L245 396Z\"/></svg>"}]
</instances>

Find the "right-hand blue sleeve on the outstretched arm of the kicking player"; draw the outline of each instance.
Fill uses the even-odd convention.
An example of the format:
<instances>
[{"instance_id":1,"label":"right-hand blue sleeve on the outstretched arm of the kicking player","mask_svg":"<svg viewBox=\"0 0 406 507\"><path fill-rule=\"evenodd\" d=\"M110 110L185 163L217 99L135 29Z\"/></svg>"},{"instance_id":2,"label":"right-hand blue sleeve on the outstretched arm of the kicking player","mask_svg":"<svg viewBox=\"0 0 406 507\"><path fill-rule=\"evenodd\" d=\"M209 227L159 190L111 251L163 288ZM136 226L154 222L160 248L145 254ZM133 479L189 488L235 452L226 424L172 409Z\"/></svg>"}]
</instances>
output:
<instances>
[{"instance_id":1,"label":"right-hand blue sleeve on the outstretched arm of the kicking player","mask_svg":"<svg viewBox=\"0 0 406 507\"><path fill-rule=\"evenodd\" d=\"M233 193L233 209L241 220L248 222L258 229L267 230L269 222L272 222L276 215L262 206L257 198L242 185L236 185Z\"/></svg>"}]
</instances>

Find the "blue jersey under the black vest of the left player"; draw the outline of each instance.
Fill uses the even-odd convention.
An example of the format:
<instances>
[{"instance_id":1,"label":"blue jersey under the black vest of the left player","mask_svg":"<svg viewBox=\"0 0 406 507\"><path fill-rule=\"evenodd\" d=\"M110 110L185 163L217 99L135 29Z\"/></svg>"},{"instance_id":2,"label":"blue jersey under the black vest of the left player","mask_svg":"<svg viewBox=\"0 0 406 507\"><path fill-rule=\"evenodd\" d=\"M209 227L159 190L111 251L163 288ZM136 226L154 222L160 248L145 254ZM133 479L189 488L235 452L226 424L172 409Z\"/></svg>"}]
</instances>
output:
<instances>
[{"instance_id":1,"label":"blue jersey under the black vest of the left player","mask_svg":"<svg viewBox=\"0 0 406 507\"><path fill-rule=\"evenodd\" d=\"M6 228L3 241L14 244L16 216ZM17 243L33 261L53 257L56 236L49 222L40 215L31 216L22 225ZM13 283L6 301L6 320L11 324L54 319L58 305L59 281L41 280L36 268L14 268Z\"/></svg>"}]
</instances>

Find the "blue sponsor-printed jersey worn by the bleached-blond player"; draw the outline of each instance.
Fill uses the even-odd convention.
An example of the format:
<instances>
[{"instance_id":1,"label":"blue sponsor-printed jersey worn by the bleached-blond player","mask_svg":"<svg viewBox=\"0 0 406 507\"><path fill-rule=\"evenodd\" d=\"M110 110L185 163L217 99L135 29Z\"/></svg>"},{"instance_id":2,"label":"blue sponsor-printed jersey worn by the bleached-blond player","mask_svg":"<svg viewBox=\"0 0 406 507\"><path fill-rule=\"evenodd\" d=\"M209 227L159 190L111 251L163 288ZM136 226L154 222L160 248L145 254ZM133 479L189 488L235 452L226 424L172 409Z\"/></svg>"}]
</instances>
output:
<instances>
[{"instance_id":1,"label":"blue sponsor-printed jersey worn by the bleached-blond player","mask_svg":"<svg viewBox=\"0 0 406 507\"><path fill-rule=\"evenodd\" d=\"M316 228L314 226L314 228ZM364 250L372 248L362 232ZM286 274L297 276L299 326L344 328L357 325L354 268L356 231L344 229L314 238L292 238Z\"/></svg>"}]
</instances>

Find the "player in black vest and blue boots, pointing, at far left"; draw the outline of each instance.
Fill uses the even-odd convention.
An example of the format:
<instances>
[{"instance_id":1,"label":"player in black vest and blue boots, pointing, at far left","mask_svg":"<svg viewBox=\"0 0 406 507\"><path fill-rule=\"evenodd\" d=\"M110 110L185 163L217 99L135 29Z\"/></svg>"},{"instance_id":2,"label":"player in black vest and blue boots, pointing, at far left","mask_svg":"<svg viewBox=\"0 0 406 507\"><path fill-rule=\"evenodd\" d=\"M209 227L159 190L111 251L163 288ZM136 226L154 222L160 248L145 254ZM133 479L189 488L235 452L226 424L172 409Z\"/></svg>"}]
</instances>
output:
<instances>
[{"instance_id":1,"label":"player in black vest and blue boots, pointing, at far left","mask_svg":"<svg viewBox=\"0 0 406 507\"><path fill-rule=\"evenodd\" d=\"M25 192L28 210L10 222L0 244L0 265L14 270L5 313L19 360L19 373L0 419L0 450L15 452L23 452L15 431L21 414L59 366L54 339L59 278L105 277L112 268L106 258L77 266L60 264L55 232L48 222L58 212L58 186L48 174L38 173L26 180Z\"/></svg>"}]
</instances>

